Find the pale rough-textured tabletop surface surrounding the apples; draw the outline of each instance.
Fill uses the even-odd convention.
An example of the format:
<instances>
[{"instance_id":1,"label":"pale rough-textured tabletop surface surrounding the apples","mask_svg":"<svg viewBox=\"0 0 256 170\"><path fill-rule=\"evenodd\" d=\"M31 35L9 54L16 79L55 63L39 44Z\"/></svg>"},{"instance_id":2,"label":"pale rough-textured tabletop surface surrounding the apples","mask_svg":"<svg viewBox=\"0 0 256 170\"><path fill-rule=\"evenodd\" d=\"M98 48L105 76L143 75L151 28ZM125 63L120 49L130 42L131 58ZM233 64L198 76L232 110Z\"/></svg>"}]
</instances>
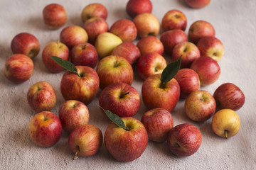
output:
<instances>
[{"instance_id":1,"label":"pale rough-textured tabletop surface surrounding the apples","mask_svg":"<svg viewBox=\"0 0 256 170\"><path fill-rule=\"evenodd\" d=\"M73 161L73 153L68 149L68 135L63 132L60 141L49 148L37 147L28 136L28 123L35 114L28 106L28 88L38 81L48 81L57 93L57 103L53 113L64 99L60 94L60 79L63 72L50 74L43 65L41 52L46 43L58 40L60 29L48 30L43 25L42 10L52 1L0 1L0 169L256 169L256 125L255 125L255 64L256 64L256 22L255 0L212 0L209 6L201 9L188 8L181 0L152 1L153 13L159 21L170 9L183 11L188 18L188 27L196 20L213 24L216 37L225 46L225 55L219 62L221 74L218 81L203 87L211 94L225 82L238 85L245 94L245 105L238 111L241 128L238 135L225 140L213 134L211 119L204 123L194 123L186 118L183 102L171 113L174 125L192 123L203 135L203 142L196 154L191 157L174 157L166 143L149 142L145 152L137 160L128 163L116 162L102 145L100 152L93 157L80 157ZM68 13L66 26L82 26L80 11L93 1L58 1ZM103 1L109 11L109 26L120 18L129 18L124 11L127 1ZM12 84L4 77L4 63L11 55L10 43L14 35L28 32L35 35L41 43L41 52L34 60L31 79L23 84ZM188 28L186 29L188 33ZM132 84L141 94L142 80L135 74ZM90 123L97 125L103 132L110 123L98 108L98 96L88 106ZM135 115L140 119L146 111L144 104Z\"/></svg>"}]
</instances>

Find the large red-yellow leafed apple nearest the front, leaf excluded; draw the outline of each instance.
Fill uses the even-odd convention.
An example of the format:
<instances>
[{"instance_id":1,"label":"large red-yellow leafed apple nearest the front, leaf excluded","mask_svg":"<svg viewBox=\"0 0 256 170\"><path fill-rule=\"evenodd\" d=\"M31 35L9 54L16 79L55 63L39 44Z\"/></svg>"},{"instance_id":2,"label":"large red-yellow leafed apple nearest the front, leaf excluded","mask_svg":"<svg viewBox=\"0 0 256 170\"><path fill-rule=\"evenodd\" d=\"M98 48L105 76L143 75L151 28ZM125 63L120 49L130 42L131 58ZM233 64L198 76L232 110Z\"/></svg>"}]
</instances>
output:
<instances>
[{"instance_id":1,"label":"large red-yellow leafed apple nearest the front, leaf excluded","mask_svg":"<svg viewBox=\"0 0 256 170\"><path fill-rule=\"evenodd\" d=\"M105 131L104 142L114 159L119 162L131 162L138 159L146 149L148 135L144 125L136 118L125 117L122 120L129 130L119 128L112 122Z\"/></svg>"}]
</instances>

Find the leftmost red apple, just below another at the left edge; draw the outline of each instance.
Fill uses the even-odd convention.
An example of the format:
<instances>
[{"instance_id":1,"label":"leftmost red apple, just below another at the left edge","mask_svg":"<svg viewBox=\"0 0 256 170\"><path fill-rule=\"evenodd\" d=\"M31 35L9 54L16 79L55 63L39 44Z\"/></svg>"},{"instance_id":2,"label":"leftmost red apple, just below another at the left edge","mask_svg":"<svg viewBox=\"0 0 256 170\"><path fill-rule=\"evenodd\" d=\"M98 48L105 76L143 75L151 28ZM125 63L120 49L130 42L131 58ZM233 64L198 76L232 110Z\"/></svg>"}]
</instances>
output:
<instances>
[{"instance_id":1,"label":"leftmost red apple, just below another at the left edge","mask_svg":"<svg viewBox=\"0 0 256 170\"><path fill-rule=\"evenodd\" d=\"M11 55L4 65L4 76L9 81L20 84L30 79L33 74L33 61L26 55Z\"/></svg>"}]
</instances>

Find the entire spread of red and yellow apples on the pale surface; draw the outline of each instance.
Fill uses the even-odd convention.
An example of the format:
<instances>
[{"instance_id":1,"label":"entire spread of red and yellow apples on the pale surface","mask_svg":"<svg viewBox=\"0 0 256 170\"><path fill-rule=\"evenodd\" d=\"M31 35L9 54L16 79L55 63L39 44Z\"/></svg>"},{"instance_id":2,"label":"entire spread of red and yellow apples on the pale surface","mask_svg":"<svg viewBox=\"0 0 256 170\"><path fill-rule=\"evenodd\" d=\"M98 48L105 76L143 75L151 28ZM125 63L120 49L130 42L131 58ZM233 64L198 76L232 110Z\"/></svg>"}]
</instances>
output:
<instances>
[{"instance_id":1,"label":"entire spread of red and yellow apples on the pale surface","mask_svg":"<svg viewBox=\"0 0 256 170\"><path fill-rule=\"evenodd\" d=\"M202 8L210 0L185 0L192 8ZM28 89L27 99L36 111L28 125L31 140L41 147L53 146L60 139L62 130L68 132L68 146L78 156L96 154L104 141L112 157L120 162L137 159L146 149L148 140L165 142L177 156L194 154L201 145L202 135L189 123L176 125L171 116L180 98L185 101L185 113L195 122L213 116L213 132L220 137L232 137L240 129L240 118L235 111L245 103L242 91L232 83L215 89L214 94L201 90L213 84L220 76L218 62L224 55L222 42L215 38L215 29L207 21L191 24L188 35L184 13L176 9L165 13L161 25L154 16L149 0L129 0L126 11L132 18L120 19L108 26L107 8L102 4L89 4L83 8L80 26L66 26L60 40L49 42L42 52L42 60L49 72L65 70L60 82L62 103L58 116L50 112L55 106L53 86L39 81ZM61 28L67 22L65 8L49 4L43 9L43 21L50 29ZM160 28L164 30L160 38ZM137 45L134 40L138 40ZM33 74L33 58L40 45L30 33L20 33L11 41L14 55L4 68L7 79L22 83ZM163 55L171 56L171 64L180 61L180 69L170 69ZM51 56L58 57L60 66ZM95 68L96 67L96 68ZM139 93L132 86L134 71L144 79L142 101L149 110L141 120L132 118L141 105ZM121 118L107 126L103 138L95 125L90 125L87 105L101 89L99 106ZM118 119L119 120L119 119Z\"/></svg>"}]
</instances>

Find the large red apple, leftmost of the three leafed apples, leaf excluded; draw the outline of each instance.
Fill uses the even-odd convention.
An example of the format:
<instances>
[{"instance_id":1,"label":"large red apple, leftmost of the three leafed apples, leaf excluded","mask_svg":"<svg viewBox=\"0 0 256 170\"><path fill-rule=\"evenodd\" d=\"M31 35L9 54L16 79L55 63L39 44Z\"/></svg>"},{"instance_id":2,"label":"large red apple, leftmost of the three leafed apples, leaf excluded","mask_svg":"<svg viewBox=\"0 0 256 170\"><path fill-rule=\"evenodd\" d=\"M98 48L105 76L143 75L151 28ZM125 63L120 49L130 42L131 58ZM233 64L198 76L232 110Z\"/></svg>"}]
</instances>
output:
<instances>
[{"instance_id":1,"label":"large red apple, leftmost of the three leafed apples, leaf excluded","mask_svg":"<svg viewBox=\"0 0 256 170\"><path fill-rule=\"evenodd\" d=\"M100 79L94 69L87 66L75 66L78 75L65 71L60 81L60 91L65 100L77 100L88 105L95 98Z\"/></svg>"}]
</instances>

